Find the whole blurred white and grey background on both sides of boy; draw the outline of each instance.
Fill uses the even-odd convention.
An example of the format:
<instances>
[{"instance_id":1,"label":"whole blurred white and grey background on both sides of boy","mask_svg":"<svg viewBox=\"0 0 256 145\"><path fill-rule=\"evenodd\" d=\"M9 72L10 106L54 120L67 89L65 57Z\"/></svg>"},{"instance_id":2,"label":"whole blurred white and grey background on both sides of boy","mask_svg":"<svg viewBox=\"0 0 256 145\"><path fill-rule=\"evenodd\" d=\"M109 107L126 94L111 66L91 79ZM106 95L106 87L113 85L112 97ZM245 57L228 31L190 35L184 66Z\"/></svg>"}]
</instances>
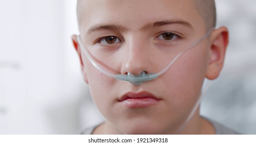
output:
<instances>
[{"instance_id":1,"label":"whole blurred white and grey background on both sides of boy","mask_svg":"<svg viewBox=\"0 0 256 145\"><path fill-rule=\"evenodd\" d=\"M201 114L256 134L256 1L216 4L230 45ZM100 123L71 41L76 1L0 0L0 18L0 134L79 134Z\"/></svg>"}]
</instances>

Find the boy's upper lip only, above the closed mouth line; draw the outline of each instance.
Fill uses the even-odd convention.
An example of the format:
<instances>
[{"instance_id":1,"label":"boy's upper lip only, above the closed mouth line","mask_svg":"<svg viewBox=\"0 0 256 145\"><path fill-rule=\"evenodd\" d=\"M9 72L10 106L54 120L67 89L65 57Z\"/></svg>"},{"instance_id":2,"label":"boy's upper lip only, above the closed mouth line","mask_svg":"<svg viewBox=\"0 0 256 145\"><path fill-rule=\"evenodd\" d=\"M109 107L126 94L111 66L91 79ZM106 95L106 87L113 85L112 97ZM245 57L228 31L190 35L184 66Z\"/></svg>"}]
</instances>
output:
<instances>
[{"instance_id":1,"label":"boy's upper lip only, above the closed mouth line","mask_svg":"<svg viewBox=\"0 0 256 145\"><path fill-rule=\"evenodd\" d=\"M160 100L158 97L156 97L152 93L147 92L147 91L142 91L142 92L138 92L138 93L128 92L128 93L124 94L122 97L120 97L119 101L124 101L127 99L141 99L141 98L152 98L152 99Z\"/></svg>"}]
</instances>

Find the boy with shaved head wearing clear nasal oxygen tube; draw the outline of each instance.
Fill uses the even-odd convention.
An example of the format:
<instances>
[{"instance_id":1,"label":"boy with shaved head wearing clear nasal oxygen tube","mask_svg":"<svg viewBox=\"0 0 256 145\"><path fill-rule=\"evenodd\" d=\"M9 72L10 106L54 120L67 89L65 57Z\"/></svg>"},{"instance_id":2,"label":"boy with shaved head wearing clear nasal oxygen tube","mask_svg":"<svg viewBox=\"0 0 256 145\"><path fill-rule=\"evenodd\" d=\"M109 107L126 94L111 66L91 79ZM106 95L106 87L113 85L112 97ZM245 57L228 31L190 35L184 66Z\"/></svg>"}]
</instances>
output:
<instances>
[{"instance_id":1,"label":"boy with shaved head wearing clear nasal oxygen tube","mask_svg":"<svg viewBox=\"0 0 256 145\"><path fill-rule=\"evenodd\" d=\"M235 134L196 105L228 44L213 0L78 0L77 18L74 47L106 119L85 134Z\"/></svg>"}]
</instances>

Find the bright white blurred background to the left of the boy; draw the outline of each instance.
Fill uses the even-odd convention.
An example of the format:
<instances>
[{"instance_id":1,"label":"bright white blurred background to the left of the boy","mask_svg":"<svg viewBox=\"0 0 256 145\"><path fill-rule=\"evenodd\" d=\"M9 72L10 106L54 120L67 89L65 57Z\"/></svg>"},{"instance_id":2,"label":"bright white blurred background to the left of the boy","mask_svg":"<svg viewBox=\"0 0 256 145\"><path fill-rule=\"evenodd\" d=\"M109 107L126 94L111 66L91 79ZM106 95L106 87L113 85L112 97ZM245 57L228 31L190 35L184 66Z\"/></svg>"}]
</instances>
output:
<instances>
[{"instance_id":1,"label":"bright white blurred background to the left of the boy","mask_svg":"<svg viewBox=\"0 0 256 145\"><path fill-rule=\"evenodd\" d=\"M75 4L0 2L0 134L79 133L86 85L71 43Z\"/></svg>"}]
</instances>

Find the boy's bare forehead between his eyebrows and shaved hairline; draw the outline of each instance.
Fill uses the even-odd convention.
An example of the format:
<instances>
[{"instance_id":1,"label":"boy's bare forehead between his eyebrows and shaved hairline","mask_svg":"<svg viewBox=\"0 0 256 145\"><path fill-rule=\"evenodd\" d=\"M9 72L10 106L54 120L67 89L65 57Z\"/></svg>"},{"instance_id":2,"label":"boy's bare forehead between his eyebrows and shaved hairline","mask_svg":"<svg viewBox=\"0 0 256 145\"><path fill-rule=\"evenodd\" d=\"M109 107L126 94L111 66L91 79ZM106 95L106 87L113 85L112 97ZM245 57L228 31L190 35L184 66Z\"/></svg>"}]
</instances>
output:
<instances>
[{"instance_id":1,"label":"boy's bare forehead between his eyebrows and shaved hairline","mask_svg":"<svg viewBox=\"0 0 256 145\"><path fill-rule=\"evenodd\" d=\"M200 28L203 20L191 0L80 0L80 30L91 25L115 23L138 30L149 22L184 20ZM85 31L85 30L84 30Z\"/></svg>"}]
</instances>

